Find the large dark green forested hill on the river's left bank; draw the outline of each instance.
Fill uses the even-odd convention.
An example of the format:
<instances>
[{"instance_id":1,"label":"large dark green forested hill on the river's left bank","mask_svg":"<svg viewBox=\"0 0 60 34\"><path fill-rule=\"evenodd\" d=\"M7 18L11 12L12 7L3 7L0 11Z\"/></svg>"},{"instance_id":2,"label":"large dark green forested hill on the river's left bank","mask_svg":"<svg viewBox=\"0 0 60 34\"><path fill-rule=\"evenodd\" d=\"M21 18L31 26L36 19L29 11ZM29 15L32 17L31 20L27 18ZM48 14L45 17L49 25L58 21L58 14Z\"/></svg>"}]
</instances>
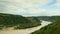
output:
<instances>
[{"instance_id":1,"label":"large dark green forested hill on the river's left bank","mask_svg":"<svg viewBox=\"0 0 60 34\"><path fill-rule=\"evenodd\" d=\"M21 15L0 13L0 29L14 27L14 29L25 29L40 25L37 18L27 18Z\"/></svg>"}]
</instances>

